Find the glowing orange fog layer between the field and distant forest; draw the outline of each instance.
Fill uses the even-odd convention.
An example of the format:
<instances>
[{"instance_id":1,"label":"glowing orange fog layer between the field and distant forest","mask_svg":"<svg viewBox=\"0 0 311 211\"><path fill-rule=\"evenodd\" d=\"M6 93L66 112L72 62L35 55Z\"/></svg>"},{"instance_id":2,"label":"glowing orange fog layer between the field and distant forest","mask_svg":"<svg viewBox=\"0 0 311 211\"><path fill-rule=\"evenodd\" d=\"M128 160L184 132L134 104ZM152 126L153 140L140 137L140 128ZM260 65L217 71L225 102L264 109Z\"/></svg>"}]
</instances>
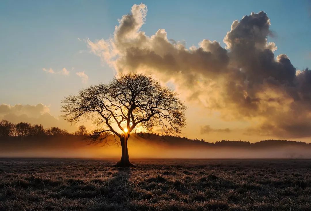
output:
<instances>
[{"instance_id":1,"label":"glowing orange fog layer between the field and distant forest","mask_svg":"<svg viewBox=\"0 0 311 211\"><path fill-rule=\"evenodd\" d=\"M113 138L112 138L113 140ZM119 158L121 147L110 141L88 145L79 136L26 137L0 140L0 157ZM231 142L228 142L229 144ZM103 146L104 145L104 146ZM131 135L131 158L311 158L310 144L283 143L224 146L183 138Z\"/></svg>"}]
</instances>

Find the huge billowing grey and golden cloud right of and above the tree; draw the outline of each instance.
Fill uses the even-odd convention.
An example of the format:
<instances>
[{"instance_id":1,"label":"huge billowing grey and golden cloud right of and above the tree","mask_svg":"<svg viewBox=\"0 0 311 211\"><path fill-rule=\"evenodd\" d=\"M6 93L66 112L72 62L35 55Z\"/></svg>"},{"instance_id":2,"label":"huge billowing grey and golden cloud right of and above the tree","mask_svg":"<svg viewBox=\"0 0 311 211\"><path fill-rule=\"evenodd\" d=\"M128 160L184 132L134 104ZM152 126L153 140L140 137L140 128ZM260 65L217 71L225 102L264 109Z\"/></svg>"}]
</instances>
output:
<instances>
[{"instance_id":1,"label":"huge billowing grey and golden cloud right of and above the tree","mask_svg":"<svg viewBox=\"0 0 311 211\"><path fill-rule=\"evenodd\" d=\"M204 39L187 49L167 38L164 29L147 36L141 30L147 7L133 5L108 40L87 40L91 52L116 72L152 74L171 82L188 102L218 111L225 120L257 123L248 131L287 137L311 137L311 70L296 72L276 44L265 12L233 21L225 48Z\"/></svg>"}]
</instances>

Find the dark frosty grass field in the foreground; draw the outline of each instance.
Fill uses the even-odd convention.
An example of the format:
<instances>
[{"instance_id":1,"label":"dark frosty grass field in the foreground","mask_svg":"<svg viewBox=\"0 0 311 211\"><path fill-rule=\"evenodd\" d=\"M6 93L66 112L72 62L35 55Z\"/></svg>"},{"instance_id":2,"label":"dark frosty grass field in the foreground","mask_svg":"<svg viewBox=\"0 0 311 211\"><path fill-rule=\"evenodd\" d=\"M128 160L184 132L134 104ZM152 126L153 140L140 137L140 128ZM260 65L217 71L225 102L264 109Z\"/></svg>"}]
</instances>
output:
<instances>
[{"instance_id":1,"label":"dark frosty grass field in the foreground","mask_svg":"<svg viewBox=\"0 0 311 211\"><path fill-rule=\"evenodd\" d=\"M0 159L0 210L311 210L310 160Z\"/></svg>"}]
</instances>

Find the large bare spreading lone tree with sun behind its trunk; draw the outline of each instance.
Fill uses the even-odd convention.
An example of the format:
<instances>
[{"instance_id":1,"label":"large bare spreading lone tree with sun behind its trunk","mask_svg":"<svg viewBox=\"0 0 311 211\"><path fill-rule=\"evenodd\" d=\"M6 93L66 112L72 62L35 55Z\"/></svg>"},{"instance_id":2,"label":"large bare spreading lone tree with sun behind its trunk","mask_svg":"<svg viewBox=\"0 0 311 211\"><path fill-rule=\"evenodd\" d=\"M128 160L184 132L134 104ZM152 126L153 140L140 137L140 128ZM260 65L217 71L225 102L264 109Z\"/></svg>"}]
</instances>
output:
<instances>
[{"instance_id":1,"label":"large bare spreading lone tree with sun behind its trunk","mask_svg":"<svg viewBox=\"0 0 311 211\"><path fill-rule=\"evenodd\" d=\"M177 93L162 87L143 74L120 74L109 83L82 89L62 101L66 120L77 123L80 118L92 119L96 129L90 143L107 141L109 135L120 139L122 156L116 166L130 167L128 138L136 129L153 133L177 134L185 126L186 107Z\"/></svg>"}]
</instances>

